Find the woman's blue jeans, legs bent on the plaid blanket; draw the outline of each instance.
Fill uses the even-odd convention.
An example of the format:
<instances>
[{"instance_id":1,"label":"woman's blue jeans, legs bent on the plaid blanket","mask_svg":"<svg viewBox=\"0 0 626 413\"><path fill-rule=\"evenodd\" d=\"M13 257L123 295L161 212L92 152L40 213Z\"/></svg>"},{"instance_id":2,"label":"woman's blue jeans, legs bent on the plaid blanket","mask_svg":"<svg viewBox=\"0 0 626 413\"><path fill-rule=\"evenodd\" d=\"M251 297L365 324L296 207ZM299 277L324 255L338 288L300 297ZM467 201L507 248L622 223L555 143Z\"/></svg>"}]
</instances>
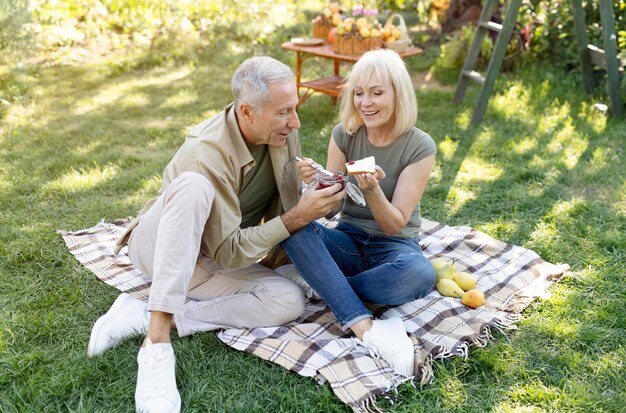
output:
<instances>
[{"instance_id":1,"label":"woman's blue jeans, legs bent on the plaid blanket","mask_svg":"<svg viewBox=\"0 0 626 413\"><path fill-rule=\"evenodd\" d=\"M404 304L428 294L435 283L435 270L415 238L312 222L281 245L344 329L371 318L364 302Z\"/></svg>"}]
</instances>

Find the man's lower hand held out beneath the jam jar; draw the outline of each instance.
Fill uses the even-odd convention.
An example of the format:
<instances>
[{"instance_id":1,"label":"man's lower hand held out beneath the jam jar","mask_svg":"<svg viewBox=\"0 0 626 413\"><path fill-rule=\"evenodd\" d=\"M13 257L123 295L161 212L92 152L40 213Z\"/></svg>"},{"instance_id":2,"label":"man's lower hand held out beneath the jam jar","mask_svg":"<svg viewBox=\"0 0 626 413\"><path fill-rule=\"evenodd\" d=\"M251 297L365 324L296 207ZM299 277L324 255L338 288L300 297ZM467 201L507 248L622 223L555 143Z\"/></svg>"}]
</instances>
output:
<instances>
[{"instance_id":1,"label":"man's lower hand held out beneath the jam jar","mask_svg":"<svg viewBox=\"0 0 626 413\"><path fill-rule=\"evenodd\" d=\"M309 222L326 216L345 196L346 190L341 188L341 184L324 189L311 187L302 193L298 203L281 218L289 233L293 234Z\"/></svg>"}]
</instances>

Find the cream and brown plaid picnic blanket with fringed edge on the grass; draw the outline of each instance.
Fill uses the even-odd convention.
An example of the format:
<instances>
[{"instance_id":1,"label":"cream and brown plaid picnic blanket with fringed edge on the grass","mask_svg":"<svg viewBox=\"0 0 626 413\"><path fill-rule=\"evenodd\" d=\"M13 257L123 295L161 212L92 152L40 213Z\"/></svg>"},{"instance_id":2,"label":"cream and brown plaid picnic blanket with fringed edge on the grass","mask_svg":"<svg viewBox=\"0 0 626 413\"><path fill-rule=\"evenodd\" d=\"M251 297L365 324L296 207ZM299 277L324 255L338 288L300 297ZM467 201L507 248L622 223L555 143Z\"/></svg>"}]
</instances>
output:
<instances>
[{"instance_id":1,"label":"cream and brown plaid picnic blanket with fringed edge on the grass","mask_svg":"<svg viewBox=\"0 0 626 413\"><path fill-rule=\"evenodd\" d=\"M115 240L127 222L101 222L80 231L58 232L70 252L100 280L147 300L149 279L132 267L126 248L119 255L113 254ZM551 264L529 249L472 228L425 219L420 244L426 257L453 259L459 270L476 276L477 288L486 298L484 306L472 310L457 298L433 291L401 306L371 307L376 318L404 320L415 344L415 379L420 384L433 378L433 359L467 357L470 346L485 346L492 339L493 329L515 328L520 312L546 294L550 284L569 269L566 264ZM355 412L377 411L378 395L393 396L400 383L410 380L370 356L350 332L342 332L334 315L319 300L308 300L304 314L286 325L226 329L217 336L237 350L328 382L335 395Z\"/></svg>"}]
</instances>

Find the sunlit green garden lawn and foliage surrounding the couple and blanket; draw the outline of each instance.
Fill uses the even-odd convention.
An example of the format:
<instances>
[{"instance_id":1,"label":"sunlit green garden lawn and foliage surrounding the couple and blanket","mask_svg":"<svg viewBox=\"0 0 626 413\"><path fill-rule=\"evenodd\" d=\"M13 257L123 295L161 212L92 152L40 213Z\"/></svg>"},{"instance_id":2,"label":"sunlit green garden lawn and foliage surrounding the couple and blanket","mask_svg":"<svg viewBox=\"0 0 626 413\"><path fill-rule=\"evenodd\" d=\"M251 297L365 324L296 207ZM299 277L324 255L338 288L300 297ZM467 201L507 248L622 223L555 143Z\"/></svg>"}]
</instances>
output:
<instances>
[{"instance_id":1,"label":"sunlit green garden lawn and foliage surrounding the couple and blanket","mask_svg":"<svg viewBox=\"0 0 626 413\"><path fill-rule=\"evenodd\" d=\"M321 1L0 0L0 411L134 409L141 339L89 359L93 322L117 291L68 253L57 229L134 215L195 123L230 101L229 78L255 54L310 35ZM446 0L368 4L401 13L424 49L407 60L417 126L439 154L426 218L533 249L572 274L467 359L403 385L394 412L619 412L626 405L626 121L598 110L604 74L583 92L569 2L530 0L487 114L477 88L452 105L470 29L443 34ZM354 5L346 3L348 10ZM598 1L586 3L601 45ZM614 1L626 48L626 3ZM524 31L525 29L525 31ZM489 44L484 53L489 53ZM308 62L307 62L308 63ZM329 73L309 64L307 76ZM343 70L347 70L344 67ZM622 96L626 82L622 78ZM626 101L626 99L624 99ZM299 109L303 152L321 162L337 110ZM174 338L186 411L332 412L324 385L220 343Z\"/></svg>"}]
</instances>

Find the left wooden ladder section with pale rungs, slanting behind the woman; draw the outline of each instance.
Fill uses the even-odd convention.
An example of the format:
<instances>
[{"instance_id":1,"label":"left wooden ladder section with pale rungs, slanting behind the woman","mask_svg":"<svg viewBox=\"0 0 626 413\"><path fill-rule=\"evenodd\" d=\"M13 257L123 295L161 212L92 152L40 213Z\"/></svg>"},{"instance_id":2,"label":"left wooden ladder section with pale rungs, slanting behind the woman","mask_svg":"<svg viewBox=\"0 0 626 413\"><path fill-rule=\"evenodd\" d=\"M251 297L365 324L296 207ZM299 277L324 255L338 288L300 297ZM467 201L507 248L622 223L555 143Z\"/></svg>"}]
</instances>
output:
<instances>
[{"instance_id":1,"label":"left wooden ladder section with pale rungs, slanting behind the woman","mask_svg":"<svg viewBox=\"0 0 626 413\"><path fill-rule=\"evenodd\" d=\"M463 64L461 75L459 76L459 83L456 87L456 93L454 94L454 103L459 104L463 101L463 96L465 96L465 91L467 90L470 80L481 85L480 95L478 96L478 101L474 107L474 114L472 115L472 123L480 122L485 115L487 103L493 93L493 86L500 72L500 66L502 65L502 60L504 60L506 47L511 39L511 33L513 32L513 27L515 27L522 0L509 1L502 24L491 21L491 16L499 3L499 0L487 0L483 7L480 18L478 19L474 40L465 58L465 63ZM476 61L480 54L480 46L488 31L498 33L498 37L491 54L491 59L489 60L489 65L487 66L487 71L483 76L481 73L475 71L474 68L476 67Z\"/></svg>"}]
</instances>

